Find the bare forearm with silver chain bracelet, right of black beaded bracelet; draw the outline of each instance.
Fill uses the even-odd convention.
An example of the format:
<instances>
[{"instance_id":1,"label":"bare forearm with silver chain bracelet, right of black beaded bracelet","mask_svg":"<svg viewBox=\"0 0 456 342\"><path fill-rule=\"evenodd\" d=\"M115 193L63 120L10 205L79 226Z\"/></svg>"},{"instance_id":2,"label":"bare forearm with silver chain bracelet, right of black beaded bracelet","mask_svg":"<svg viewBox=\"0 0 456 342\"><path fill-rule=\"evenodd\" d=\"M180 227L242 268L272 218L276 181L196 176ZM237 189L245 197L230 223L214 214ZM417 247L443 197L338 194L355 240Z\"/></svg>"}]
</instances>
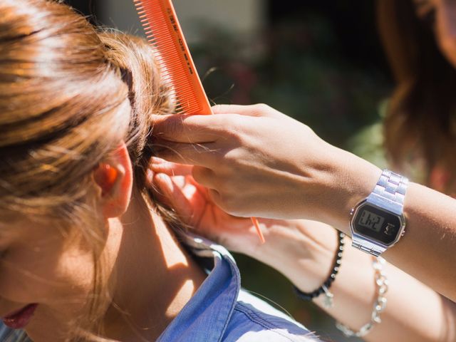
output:
<instances>
[{"instance_id":1,"label":"bare forearm with silver chain bracelet, right of black beaded bracelet","mask_svg":"<svg viewBox=\"0 0 456 342\"><path fill-rule=\"evenodd\" d=\"M384 271L389 281L385 294L388 302L380 314L381 323L364 337L366 341L455 341L455 303L388 262ZM331 286L333 307L323 306L323 296L315 302L336 320L358 331L371 320L375 289L371 256L346 247Z\"/></svg>"}]
</instances>

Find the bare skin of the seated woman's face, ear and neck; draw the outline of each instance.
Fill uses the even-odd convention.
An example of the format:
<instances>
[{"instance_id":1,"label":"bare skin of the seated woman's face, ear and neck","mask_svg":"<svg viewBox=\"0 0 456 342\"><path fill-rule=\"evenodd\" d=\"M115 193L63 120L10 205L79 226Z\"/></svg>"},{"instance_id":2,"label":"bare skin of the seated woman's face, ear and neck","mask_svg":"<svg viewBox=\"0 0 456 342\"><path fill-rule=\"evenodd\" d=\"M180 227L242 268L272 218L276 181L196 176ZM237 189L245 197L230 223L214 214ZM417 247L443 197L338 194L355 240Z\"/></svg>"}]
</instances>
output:
<instances>
[{"instance_id":1,"label":"bare skin of the seated woman's face, ear and neck","mask_svg":"<svg viewBox=\"0 0 456 342\"><path fill-rule=\"evenodd\" d=\"M108 160L110 167L94 172L101 185L95 184L93 191L99 224L106 229L102 253L113 297L105 308L103 326L107 337L118 341L138 341L139 336L155 341L195 293L204 274L134 190L125 145L117 153ZM0 316L37 303L25 328L28 335L34 342L63 341L67 323L88 314L85 304L93 291L89 244L78 227L70 237L53 220L24 218L1 222L1 228L0 247L5 253L0 265Z\"/></svg>"}]
</instances>

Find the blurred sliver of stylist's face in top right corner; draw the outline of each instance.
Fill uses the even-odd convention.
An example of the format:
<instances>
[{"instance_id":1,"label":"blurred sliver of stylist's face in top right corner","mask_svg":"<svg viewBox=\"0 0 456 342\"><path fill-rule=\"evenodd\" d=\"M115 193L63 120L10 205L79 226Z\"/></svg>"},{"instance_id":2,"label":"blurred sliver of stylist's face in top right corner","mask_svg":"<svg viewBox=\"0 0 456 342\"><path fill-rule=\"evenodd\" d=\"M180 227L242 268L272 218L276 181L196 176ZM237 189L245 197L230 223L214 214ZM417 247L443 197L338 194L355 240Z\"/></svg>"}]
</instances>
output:
<instances>
[{"instance_id":1,"label":"blurred sliver of stylist's face in top right corner","mask_svg":"<svg viewBox=\"0 0 456 342\"><path fill-rule=\"evenodd\" d=\"M443 56L456 68L456 1L414 0L418 18L435 31L435 39Z\"/></svg>"}]
</instances>

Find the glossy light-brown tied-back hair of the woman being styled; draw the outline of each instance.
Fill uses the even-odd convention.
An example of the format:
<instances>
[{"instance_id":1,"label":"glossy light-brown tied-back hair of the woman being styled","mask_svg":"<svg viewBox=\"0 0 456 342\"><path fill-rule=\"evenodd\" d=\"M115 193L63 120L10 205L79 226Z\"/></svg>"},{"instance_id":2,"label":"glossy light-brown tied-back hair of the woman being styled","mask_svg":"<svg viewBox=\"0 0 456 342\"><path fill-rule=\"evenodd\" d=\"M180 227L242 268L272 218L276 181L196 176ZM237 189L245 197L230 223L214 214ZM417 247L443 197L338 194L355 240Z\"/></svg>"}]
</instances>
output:
<instances>
[{"instance_id":1,"label":"glossy light-brown tied-back hair of the woman being styled","mask_svg":"<svg viewBox=\"0 0 456 342\"><path fill-rule=\"evenodd\" d=\"M90 193L93 169L121 140L135 187L152 204L145 187L150 118L173 113L171 90L158 70L147 42L98 32L69 6L0 3L0 217L53 217L62 227L77 226L92 244L91 314L78 319L71 341L83 331L99 332L93 322L109 300L100 259L105 229L92 222ZM172 219L160 203L153 205Z\"/></svg>"}]
</instances>

